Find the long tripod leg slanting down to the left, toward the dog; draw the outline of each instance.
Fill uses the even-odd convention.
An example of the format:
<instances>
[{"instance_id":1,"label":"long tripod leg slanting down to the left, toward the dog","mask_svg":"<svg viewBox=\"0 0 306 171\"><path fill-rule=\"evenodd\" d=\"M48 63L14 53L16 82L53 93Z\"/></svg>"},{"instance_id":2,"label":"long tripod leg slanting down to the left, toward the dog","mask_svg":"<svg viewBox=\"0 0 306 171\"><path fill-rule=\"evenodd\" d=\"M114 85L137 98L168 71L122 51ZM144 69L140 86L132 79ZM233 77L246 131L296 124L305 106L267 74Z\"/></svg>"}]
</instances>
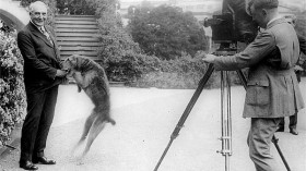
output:
<instances>
[{"instance_id":1,"label":"long tripod leg slanting down to the left, toward the dog","mask_svg":"<svg viewBox=\"0 0 306 171\"><path fill-rule=\"evenodd\" d=\"M209 66L208 66L207 72L205 72L205 74L204 74L204 76L201 78L201 81L200 81L200 83L199 83L198 88L196 89L196 91L195 91L193 96L191 97L191 99L190 99L188 106L186 107L186 109L185 109L183 115L180 117L180 119L179 119L179 121L178 121L178 123L177 123L175 130L173 131L172 136L170 136L170 141L169 141L167 147L165 148L165 150L164 150L162 157L160 158L157 164L155 166L154 171L157 171L157 170L158 170L158 168L160 168L160 166L161 166L163 159L165 158L165 156L166 156L166 154L167 154L167 151L168 151L168 149L169 149L169 147L170 147L173 141L178 136L178 133L179 133L180 129L183 127L183 125L184 125L186 119L188 118L188 115L189 115L191 109L193 108L195 103L197 102L199 96L201 95L201 93L202 93L202 90L203 90L205 84L208 83L208 81L209 81L209 78L210 78L210 76L211 76L211 74L212 74L213 71L214 71L213 64L210 63Z\"/></svg>"}]
</instances>

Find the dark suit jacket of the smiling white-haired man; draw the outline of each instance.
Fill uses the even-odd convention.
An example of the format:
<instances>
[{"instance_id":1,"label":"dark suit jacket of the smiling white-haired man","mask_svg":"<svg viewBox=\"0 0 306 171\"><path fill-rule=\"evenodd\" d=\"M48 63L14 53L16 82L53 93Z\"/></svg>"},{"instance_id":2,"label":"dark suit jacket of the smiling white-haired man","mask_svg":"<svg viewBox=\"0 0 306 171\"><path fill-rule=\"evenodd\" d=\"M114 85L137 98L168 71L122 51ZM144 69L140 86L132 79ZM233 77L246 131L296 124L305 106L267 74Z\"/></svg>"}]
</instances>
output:
<instances>
[{"instance_id":1,"label":"dark suit jacket of the smiling white-haired man","mask_svg":"<svg viewBox=\"0 0 306 171\"><path fill-rule=\"evenodd\" d=\"M54 45L47 37L30 22L17 34L17 46L24 58L24 83L27 93L48 89L62 82L56 77L56 72L61 68L57 42L49 33Z\"/></svg>"}]
</instances>

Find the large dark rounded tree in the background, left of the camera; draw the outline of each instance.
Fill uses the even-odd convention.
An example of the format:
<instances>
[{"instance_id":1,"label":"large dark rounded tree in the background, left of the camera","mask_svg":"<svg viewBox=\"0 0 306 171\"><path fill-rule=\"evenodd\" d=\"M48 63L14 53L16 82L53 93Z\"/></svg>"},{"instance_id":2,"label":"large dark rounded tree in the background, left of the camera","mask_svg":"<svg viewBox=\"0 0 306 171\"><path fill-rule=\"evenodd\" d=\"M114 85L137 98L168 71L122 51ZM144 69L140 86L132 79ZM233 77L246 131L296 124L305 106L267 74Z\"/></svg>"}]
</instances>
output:
<instances>
[{"instance_id":1,"label":"large dark rounded tree in the background, left of the camera","mask_svg":"<svg viewBox=\"0 0 306 171\"><path fill-rule=\"evenodd\" d=\"M170 60L207 49L204 29L191 13L169 5L133 11L128 29L146 54Z\"/></svg>"}]
</instances>

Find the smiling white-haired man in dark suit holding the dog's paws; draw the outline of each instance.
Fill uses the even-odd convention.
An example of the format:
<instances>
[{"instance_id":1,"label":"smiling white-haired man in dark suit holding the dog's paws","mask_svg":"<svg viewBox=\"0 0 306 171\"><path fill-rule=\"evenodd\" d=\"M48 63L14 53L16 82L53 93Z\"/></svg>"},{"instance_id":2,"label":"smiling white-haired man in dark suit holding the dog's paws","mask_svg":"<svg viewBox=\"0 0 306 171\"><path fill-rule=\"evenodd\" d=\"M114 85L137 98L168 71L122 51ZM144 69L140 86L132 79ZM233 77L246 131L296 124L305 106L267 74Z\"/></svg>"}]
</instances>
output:
<instances>
[{"instance_id":1,"label":"smiling white-haired man in dark suit holding the dog's paws","mask_svg":"<svg viewBox=\"0 0 306 171\"><path fill-rule=\"evenodd\" d=\"M45 25L47 7L40 1L30 4L30 23L17 34L24 58L24 84L27 101L21 136L20 167L37 170L34 163L55 164L44 154L52 123L58 85L64 82L59 50L50 28Z\"/></svg>"}]
</instances>

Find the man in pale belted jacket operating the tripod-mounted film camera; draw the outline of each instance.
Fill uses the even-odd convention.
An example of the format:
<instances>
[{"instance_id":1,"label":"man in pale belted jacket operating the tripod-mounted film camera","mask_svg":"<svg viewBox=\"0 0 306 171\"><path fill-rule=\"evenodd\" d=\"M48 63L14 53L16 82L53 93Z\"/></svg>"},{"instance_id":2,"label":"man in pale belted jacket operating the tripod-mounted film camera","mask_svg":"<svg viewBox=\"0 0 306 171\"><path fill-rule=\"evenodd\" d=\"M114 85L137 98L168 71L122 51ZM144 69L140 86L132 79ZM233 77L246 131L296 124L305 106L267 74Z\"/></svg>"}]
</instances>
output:
<instances>
[{"instance_id":1,"label":"man in pale belted jacket operating the tripod-mounted film camera","mask_svg":"<svg viewBox=\"0 0 306 171\"><path fill-rule=\"evenodd\" d=\"M282 118L304 108L294 66L299 45L294 28L278 12L278 0L250 0L248 12L261 30L244 51L231 57L207 54L216 70L249 68L244 118L251 118L249 156L257 171L278 171L270 155Z\"/></svg>"}]
</instances>

